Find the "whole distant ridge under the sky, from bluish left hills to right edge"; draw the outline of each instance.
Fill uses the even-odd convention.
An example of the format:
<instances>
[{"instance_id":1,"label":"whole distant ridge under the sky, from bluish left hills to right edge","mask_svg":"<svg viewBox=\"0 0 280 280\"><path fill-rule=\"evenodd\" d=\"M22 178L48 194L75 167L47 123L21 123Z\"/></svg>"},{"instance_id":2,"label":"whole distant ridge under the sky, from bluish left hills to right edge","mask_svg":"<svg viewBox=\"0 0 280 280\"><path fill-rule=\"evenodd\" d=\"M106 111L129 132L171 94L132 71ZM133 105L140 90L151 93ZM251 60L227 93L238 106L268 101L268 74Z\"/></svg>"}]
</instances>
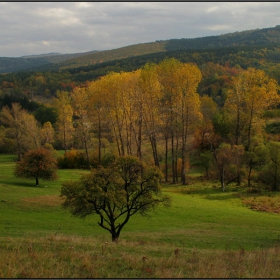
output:
<instances>
[{"instance_id":1,"label":"whole distant ridge under the sky, from bluish left hills to right edge","mask_svg":"<svg viewBox=\"0 0 280 280\"><path fill-rule=\"evenodd\" d=\"M280 25L216 36L141 43L107 51L90 51L74 54L49 53L18 58L0 57L0 73L34 70L58 71L153 53L238 46L265 46L271 44L280 44Z\"/></svg>"}]
</instances>

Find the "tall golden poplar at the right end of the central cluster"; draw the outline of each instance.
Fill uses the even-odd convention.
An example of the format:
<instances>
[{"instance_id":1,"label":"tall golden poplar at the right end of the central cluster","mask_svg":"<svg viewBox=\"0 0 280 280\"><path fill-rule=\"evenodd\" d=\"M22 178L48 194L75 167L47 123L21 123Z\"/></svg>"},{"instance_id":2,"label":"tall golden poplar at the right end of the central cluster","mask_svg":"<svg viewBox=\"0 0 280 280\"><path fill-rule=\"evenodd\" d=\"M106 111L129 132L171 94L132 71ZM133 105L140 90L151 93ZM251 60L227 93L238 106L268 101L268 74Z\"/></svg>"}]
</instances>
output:
<instances>
[{"instance_id":1,"label":"tall golden poplar at the right end of the central cluster","mask_svg":"<svg viewBox=\"0 0 280 280\"><path fill-rule=\"evenodd\" d=\"M162 87L162 116L166 123L165 164L167 165L167 144L170 135L173 183L178 179L177 165L181 145L181 180L185 184L187 141L202 117L199 95L196 92L201 72L193 64L184 64L171 58L158 65L158 75ZM165 173L167 174L167 169Z\"/></svg>"}]
</instances>

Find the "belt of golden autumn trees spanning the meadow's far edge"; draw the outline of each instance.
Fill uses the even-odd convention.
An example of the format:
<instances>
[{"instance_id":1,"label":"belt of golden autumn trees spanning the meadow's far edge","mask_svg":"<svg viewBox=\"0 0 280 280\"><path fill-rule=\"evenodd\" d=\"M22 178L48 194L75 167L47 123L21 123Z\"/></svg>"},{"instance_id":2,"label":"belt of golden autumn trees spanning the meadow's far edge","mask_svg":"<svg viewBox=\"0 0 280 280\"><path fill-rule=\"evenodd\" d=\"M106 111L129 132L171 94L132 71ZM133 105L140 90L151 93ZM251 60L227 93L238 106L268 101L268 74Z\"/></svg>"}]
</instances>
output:
<instances>
[{"instance_id":1,"label":"belt of golden autumn trees spanning the meadow's far edge","mask_svg":"<svg viewBox=\"0 0 280 280\"><path fill-rule=\"evenodd\" d=\"M30 83L45 80L37 75ZM268 171L278 172L278 164L271 153L260 158L279 138L264 133L277 127L266 125L265 115L277 111L278 91L276 80L260 69L168 58L72 84L71 92L58 90L55 123L40 126L18 104L4 107L1 143L13 145L18 159L41 146L64 149L62 168L91 169L108 158L136 156L157 166L165 182L188 184L194 162L223 190L232 182L277 190Z\"/></svg>"}]
</instances>

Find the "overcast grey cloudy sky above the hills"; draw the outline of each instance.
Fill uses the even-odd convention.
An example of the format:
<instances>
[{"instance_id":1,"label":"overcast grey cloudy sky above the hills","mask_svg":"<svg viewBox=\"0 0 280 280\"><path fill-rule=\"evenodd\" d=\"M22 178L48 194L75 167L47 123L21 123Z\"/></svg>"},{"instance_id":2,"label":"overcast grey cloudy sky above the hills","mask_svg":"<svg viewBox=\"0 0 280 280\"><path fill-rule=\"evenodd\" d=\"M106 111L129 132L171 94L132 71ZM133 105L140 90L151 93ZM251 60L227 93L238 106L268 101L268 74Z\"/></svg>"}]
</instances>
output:
<instances>
[{"instance_id":1,"label":"overcast grey cloudy sky above the hills","mask_svg":"<svg viewBox=\"0 0 280 280\"><path fill-rule=\"evenodd\" d=\"M108 50L280 25L280 2L0 2L0 56Z\"/></svg>"}]
</instances>

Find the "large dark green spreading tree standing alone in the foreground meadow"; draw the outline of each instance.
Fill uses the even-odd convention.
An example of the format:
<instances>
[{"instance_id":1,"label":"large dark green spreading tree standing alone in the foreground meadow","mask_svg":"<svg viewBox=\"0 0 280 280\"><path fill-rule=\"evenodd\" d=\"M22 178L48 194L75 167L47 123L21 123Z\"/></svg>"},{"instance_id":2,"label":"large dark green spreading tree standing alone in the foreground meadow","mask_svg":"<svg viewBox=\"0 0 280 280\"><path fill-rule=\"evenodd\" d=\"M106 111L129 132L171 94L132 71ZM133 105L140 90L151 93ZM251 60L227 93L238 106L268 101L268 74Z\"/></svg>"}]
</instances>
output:
<instances>
[{"instance_id":1,"label":"large dark green spreading tree standing alone in the foreground meadow","mask_svg":"<svg viewBox=\"0 0 280 280\"><path fill-rule=\"evenodd\" d=\"M138 158L117 158L109 167L99 166L79 181L63 184L63 207L74 216L99 215L99 226L116 241L130 217L144 215L159 204L168 206L170 199L160 191L162 177L158 167L148 167Z\"/></svg>"}]
</instances>

